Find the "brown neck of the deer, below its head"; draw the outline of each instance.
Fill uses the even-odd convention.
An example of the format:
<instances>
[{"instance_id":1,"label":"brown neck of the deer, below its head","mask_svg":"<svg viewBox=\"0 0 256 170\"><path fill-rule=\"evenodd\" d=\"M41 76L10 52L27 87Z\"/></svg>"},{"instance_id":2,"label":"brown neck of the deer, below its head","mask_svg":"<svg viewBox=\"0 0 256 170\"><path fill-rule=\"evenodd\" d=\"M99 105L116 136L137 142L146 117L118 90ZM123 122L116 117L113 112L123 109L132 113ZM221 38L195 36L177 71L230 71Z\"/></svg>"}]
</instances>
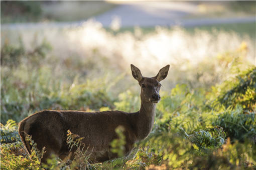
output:
<instances>
[{"instance_id":1,"label":"brown neck of the deer, below its head","mask_svg":"<svg viewBox=\"0 0 256 170\"><path fill-rule=\"evenodd\" d=\"M151 132L155 120L156 103L142 100L137 118L137 138L142 140Z\"/></svg>"}]
</instances>

